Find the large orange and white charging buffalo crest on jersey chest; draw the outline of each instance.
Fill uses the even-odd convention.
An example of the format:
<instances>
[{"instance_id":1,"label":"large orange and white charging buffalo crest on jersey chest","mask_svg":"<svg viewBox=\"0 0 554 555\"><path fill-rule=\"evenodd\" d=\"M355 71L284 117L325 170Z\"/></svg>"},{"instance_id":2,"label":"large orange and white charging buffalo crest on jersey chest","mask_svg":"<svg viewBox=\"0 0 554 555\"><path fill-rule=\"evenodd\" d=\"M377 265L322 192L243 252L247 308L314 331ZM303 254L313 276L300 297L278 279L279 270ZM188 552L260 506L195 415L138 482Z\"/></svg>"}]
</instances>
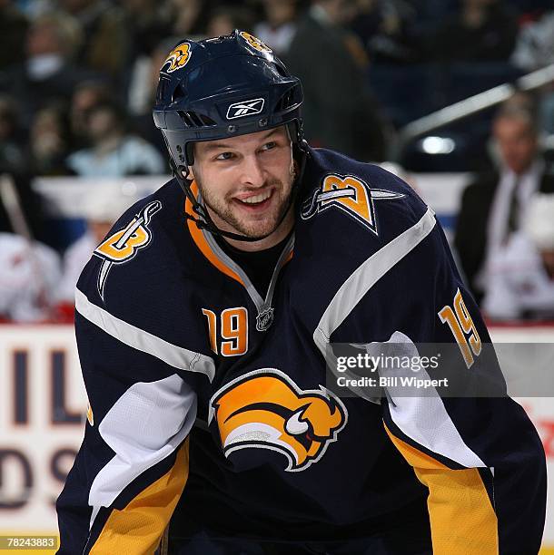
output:
<instances>
[{"instance_id":1,"label":"large orange and white charging buffalo crest on jersey chest","mask_svg":"<svg viewBox=\"0 0 554 555\"><path fill-rule=\"evenodd\" d=\"M214 415L226 457L240 449L269 449L287 457L288 472L317 463L348 419L344 404L325 387L302 391L273 368L225 385L213 395L210 422Z\"/></svg>"}]
</instances>

